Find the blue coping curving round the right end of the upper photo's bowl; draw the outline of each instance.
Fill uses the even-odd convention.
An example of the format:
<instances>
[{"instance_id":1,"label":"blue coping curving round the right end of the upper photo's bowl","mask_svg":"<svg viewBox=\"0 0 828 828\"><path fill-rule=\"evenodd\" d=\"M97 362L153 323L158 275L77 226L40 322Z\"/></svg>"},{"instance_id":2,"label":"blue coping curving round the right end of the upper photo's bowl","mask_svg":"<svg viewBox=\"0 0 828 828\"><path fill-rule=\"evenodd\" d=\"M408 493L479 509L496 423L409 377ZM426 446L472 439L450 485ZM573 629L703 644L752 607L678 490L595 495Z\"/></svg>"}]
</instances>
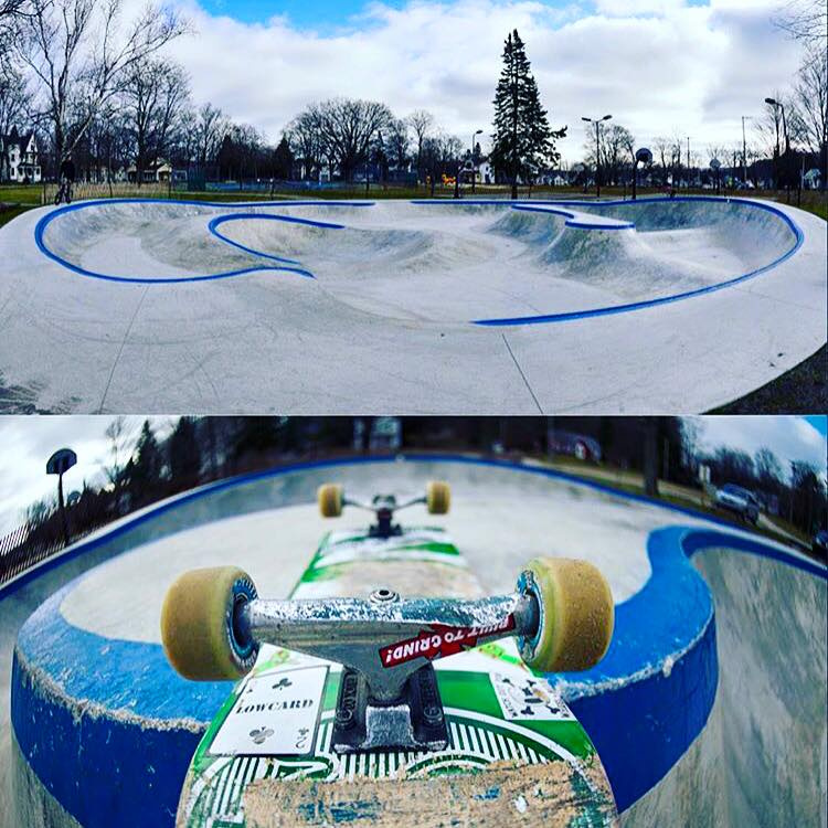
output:
<instances>
[{"instance_id":1,"label":"blue coping curving round the right end of the upper photo's bowl","mask_svg":"<svg viewBox=\"0 0 828 828\"><path fill-rule=\"evenodd\" d=\"M772 206L771 204L762 204L756 201L749 201L747 199L716 199L714 197L710 195L682 195L677 197L673 199L637 199L636 201L604 201L604 202L592 202L594 206L617 206L620 204L647 204L647 203L664 203L664 202L716 202L716 203L737 203L737 204L747 204L752 208L758 209L758 210L766 210L769 213L775 214L776 216L781 217L785 224L787 224L788 229L793 232L795 237L794 246L790 247L786 253L784 253L778 258L774 259L767 265L763 265L762 267L757 267L754 270L751 270L749 273L742 274L741 276L735 276L732 279L728 279L725 282L720 282L715 285L707 285L704 287L696 288L694 290L686 290L681 294L672 294L671 296L662 296L658 297L656 299L644 299L641 301L635 301L635 302L627 302L624 305L609 305L607 307L603 308L588 308L585 310L573 310L565 314L541 314L538 316L523 316L523 317L505 317L501 319L475 319L473 320L473 325L479 325L481 327L510 327L510 326L524 326L524 325L549 325L549 323L555 323L555 322L569 322L573 321L575 319L591 319L594 317L602 317L602 316L614 316L616 314L627 314L633 310L643 310L645 308L655 308L659 305L669 305L671 302L676 301L682 301L684 299L690 299L697 296L703 296L705 294L712 294L716 290L723 290L728 287L733 287L734 285L737 285L742 282L746 282L747 279L753 279L756 276L760 276L763 273L767 273L768 270L773 269L774 267L778 267L783 262L786 262L788 258L790 258L802 246L805 242L805 234L800 230L799 225L786 213L784 213L782 210L778 210L777 208ZM541 203L541 202L538 202ZM561 203L569 203L569 202L561 202ZM513 205L514 210L529 210L528 208L523 205ZM546 212L543 210L537 210L537 211L530 211L530 212ZM567 222L569 225L569 222ZM573 225L570 225L573 226ZM634 225L635 226L635 225ZM581 224L582 230L608 230L608 227L599 226L599 227L588 227L586 224ZM622 230L622 227L618 227Z\"/></svg>"}]
</instances>

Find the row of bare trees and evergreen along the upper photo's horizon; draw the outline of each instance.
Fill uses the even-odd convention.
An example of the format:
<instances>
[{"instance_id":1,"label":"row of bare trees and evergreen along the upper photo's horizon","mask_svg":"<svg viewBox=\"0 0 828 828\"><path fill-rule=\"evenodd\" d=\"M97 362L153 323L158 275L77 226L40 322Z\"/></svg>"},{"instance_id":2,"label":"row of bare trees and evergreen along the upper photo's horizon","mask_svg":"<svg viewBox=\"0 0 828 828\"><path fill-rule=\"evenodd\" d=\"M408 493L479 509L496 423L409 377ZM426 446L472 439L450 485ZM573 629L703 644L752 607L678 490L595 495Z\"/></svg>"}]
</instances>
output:
<instances>
[{"instance_id":1,"label":"row of bare trees and evergreen along the upper photo's horizon","mask_svg":"<svg viewBox=\"0 0 828 828\"><path fill-rule=\"evenodd\" d=\"M125 12L123 0L0 0L0 132L34 128L45 137L44 166L52 172L72 155L82 174L94 180L134 167L140 182L144 170L163 159L224 180L318 181L325 173L346 182L373 176L435 183L464 170L471 174L482 158L479 145L467 146L428 112L399 117L384 103L350 98L308 105L272 146L256 127L233 121L211 103L193 102L187 72L164 56L171 42L190 33L185 19L155 2L130 19ZM775 104L747 119L744 141L735 134L732 144L690 147L677 130L655 136L647 172L652 183L709 181L713 158L732 178L751 168L754 183L757 162L773 158L775 183L790 183L798 149L818 159L825 185L824 4L800 0L776 22L803 44L796 77L774 93ZM555 169L574 185L586 187L598 171L608 184L631 180L637 141L619 123L591 125L582 161L561 169L566 164L558 141L567 128L550 127L517 31L506 40L492 104L489 161L495 180L510 183L513 195L518 182L531 185Z\"/></svg>"}]
</instances>

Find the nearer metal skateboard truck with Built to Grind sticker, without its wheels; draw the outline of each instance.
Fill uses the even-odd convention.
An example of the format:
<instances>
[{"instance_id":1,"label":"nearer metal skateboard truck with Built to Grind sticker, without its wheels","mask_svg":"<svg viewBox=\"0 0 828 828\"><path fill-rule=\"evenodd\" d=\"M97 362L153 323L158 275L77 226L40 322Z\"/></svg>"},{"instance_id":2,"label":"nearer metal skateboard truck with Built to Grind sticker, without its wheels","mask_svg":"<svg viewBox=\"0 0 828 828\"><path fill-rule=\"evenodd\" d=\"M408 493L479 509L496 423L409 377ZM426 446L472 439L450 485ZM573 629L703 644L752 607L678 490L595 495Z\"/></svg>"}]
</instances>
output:
<instances>
[{"instance_id":1,"label":"nearer metal skateboard truck with Built to Grind sticker, without its wheels","mask_svg":"<svg viewBox=\"0 0 828 828\"><path fill-rule=\"evenodd\" d=\"M443 750L448 729L432 661L506 635L532 637L529 594L478 601L401 598L238 602L232 630L241 651L267 643L343 666L333 721L338 753Z\"/></svg>"}]
</instances>

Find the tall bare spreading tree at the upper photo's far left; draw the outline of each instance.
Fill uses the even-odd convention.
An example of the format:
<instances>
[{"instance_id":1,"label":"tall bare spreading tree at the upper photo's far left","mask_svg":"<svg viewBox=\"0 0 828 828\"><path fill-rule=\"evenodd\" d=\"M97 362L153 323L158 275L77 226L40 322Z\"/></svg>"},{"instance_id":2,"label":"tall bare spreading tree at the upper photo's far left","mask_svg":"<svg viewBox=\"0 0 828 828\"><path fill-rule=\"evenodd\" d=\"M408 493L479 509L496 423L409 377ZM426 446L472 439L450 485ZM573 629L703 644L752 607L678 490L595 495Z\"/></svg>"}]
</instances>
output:
<instances>
[{"instance_id":1,"label":"tall bare spreading tree at the upper photo's far left","mask_svg":"<svg viewBox=\"0 0 828 828\"><path fill-rule=\"evenodd\" d=\"M121 26L123 0L30 0L15 53L36 78L55 157L67 156L140 61L187 31L171 10L148 4Z\"/></svg>"}]
</instances>

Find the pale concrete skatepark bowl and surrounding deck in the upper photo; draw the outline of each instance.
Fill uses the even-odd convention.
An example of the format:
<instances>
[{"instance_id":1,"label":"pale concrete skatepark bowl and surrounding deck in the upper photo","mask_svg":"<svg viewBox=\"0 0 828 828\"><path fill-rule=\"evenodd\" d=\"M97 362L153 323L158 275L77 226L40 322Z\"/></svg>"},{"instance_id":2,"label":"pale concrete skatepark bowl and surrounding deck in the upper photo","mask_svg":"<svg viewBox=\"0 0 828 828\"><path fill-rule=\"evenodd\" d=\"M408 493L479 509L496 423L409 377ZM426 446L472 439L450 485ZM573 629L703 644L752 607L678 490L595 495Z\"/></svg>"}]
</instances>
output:
<instances>
[{"instance_id":1,"label":"pale concrete skatepark bowl and surrounding deck in the upper photo","mask_svg":"<svg viewBox=\"0 0 828 828\"><path fill-rule=\"evenodd\" d=\"M712 197L42 208L0 230L0 396L703 411L821 347L825 259L821 219Z\"/></svg>"}]
</instances>

